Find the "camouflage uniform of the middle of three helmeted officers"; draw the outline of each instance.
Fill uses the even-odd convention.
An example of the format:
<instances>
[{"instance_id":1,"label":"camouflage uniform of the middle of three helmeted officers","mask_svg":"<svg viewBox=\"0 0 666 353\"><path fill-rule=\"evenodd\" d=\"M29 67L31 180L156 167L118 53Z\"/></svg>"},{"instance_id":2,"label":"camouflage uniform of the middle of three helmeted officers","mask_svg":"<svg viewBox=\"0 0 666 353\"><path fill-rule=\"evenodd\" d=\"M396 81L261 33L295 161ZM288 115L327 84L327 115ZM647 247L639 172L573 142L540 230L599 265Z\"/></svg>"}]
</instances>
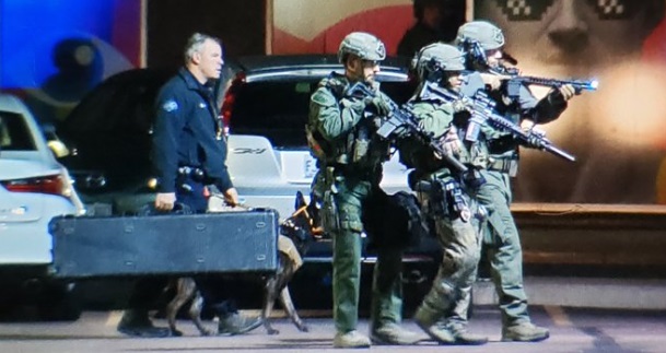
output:
<instances>
[{"instance_id":1,"label":"camouflage uniform of the middle of three helmeted officers","mask_svg":"<svg viewBox=\"0 0 666 353\"><path fill-rule=\"evenodd\" d=\"M449 104L437 101L421 101L413 105L414 116L421 128L435 138L443 137L454 123L454 111ZM464 131L460 129L460 131ZM425 325L433 325L441 320L456 303L464 296L463 291L469 289L476 279L476 269L480 255L480 225L478 217L482 211L476 202L476 188L466 186L460 176L452 172L446 165L433 164L433 152L418 143L404 144L400 154L407 164L413 166L420 180L432 185L439 180L441 184L455 181L463 191L459 196L468 208L468 216L460 216L451 212L452 204L447 205L449 212L436 207L433 200L446 199L445 195L432 191L417 193L422 202L423 212L434 220L435 232L442 245L443 259L437 275L433 281L431 291L425 295L417 310L417 318ZM487 163L484 144L466 143L459 160L470 170L482 168ZM418 181L417 181L418 183ZM440 192L445 192L440 190ZM448 198L451 202L451 198ZM446 208L446 207L445 207ZM453 214L452 214L453 213ZM470 216L471 215L471 216ZM481 219L482 220L482 219Z\"/></svg>"}]
</instances>

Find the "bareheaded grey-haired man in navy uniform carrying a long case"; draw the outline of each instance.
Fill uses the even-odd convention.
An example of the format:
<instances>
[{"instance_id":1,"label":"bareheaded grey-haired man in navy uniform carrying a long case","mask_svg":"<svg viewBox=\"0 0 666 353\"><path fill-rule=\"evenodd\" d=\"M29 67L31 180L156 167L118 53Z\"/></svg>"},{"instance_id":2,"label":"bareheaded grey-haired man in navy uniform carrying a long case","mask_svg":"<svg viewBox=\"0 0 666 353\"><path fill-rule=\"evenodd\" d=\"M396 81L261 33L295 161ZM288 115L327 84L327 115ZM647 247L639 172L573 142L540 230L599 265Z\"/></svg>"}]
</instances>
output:
<instances>
[{"instance_id":1,"label":"bareheaded grey-haired man in navy uniform carrying a long case","mask_svg":"<svg viewBox=\"0 0 666 353\"><path fill-rule=\"evenodd\" d=\"M159 176L155 209L171 211L176 201L194 212L206 212L206 185L214 184L225 201L238 203L238 193L226 170L226 140L218 119L218 105L209 83L222 70L220 40L194 34L185 48L185 67L162 86L156 98L153 130L153 164ZM166 328L155 328L148 308L164 287L164 281L140 280L129 299L129 309L118 323L118 331L130 336L162 337ZM243 333L260 326L259 318L242 317L233 305L220 321L220 332Z\"/></svg>"}]
</instances>

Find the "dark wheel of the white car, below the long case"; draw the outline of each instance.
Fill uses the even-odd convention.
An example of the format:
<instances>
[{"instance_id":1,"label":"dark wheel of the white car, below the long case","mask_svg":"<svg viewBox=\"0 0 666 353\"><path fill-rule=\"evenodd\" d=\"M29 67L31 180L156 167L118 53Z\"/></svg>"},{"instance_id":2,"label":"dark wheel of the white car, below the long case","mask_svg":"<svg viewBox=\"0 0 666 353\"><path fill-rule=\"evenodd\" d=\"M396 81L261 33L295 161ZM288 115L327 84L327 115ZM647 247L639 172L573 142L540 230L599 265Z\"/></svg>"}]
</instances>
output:
<instances>
[{"instance_id":1,"label":"dark wheel of the white car, below the long case","mask_svg":"<svg viewBox=\"0 0 666 353\"><path fill-rule=\"evenodd\" d=\"M37 303L39 318L46 321L74 321L81 317L81 304L73 283L50 283Z\"/></svg>"}]
</instances>

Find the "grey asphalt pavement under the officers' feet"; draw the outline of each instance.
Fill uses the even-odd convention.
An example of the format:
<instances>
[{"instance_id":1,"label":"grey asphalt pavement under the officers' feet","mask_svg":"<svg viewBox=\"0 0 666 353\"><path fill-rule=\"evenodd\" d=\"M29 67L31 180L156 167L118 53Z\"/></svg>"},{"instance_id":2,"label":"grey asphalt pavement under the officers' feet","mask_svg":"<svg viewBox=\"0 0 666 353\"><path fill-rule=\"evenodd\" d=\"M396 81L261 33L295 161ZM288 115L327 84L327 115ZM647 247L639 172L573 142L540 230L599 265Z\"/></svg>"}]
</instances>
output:
<instances>
[{"instance_id":1,"label":"grey asphalt pavement under the officers' feet","mask_svg":"<svg viewBox=\"0 0 666 353\"><path fill-rule=\"evenodd\" d=\"M247 313L255 314L255 313ZM316 352L331 350L334 336L329 313L303 310L309 332L300 332L276 311L280 334L268 336L262 327L235 337L200 337L186 319L178 320L180 338L137 339L119 334L115 326L120 311L86 311L75 322L1 322L0 352ZM533 306L533 320L548 327L550 339L538 343L500 341L500 313L494 306L477 306L470 330L487 334L480 346L444 346L424 340L413 346L372 346L373 352L664 352L666 311ZM163 319L156 319L163 326ZM214 327L214 320L206 325ZM419 331L410 319L404 326ZM359 325L367 332L367 320ZM425 339L425 336L423 336ZM335 352L363 350L335 350Z\"/></svg>"}]
</instances>

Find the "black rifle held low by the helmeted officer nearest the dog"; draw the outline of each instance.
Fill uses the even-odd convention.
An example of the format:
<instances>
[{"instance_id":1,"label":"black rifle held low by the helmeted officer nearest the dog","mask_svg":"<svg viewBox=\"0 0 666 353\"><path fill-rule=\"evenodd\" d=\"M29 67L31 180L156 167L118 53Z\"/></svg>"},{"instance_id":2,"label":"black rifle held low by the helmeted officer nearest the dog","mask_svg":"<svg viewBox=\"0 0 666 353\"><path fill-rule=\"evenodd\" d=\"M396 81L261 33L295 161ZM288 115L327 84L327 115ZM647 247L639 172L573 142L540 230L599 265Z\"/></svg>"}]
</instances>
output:
<instances>
[{"instance_id":1,"label":"black rifle held low by the helmeted officer nearest the dog","mask_svg":"<svg viewBox=\"0 0 666 353\"><path fill-rule=\"evenodd\" d=\"M348 91L349 96L374 97L376 93L363 82L354 83ZM421 129L414 121L413 113L408 108L400 107L389 97L384 97L390 107L388 116L383 117L376 133L386 140L410 136L419 139L430 146L442 160L446 162L455 172L467 172L467 167L460 161L448 155L440 142L428 131Z\"/></svg>"}]
</instances>

